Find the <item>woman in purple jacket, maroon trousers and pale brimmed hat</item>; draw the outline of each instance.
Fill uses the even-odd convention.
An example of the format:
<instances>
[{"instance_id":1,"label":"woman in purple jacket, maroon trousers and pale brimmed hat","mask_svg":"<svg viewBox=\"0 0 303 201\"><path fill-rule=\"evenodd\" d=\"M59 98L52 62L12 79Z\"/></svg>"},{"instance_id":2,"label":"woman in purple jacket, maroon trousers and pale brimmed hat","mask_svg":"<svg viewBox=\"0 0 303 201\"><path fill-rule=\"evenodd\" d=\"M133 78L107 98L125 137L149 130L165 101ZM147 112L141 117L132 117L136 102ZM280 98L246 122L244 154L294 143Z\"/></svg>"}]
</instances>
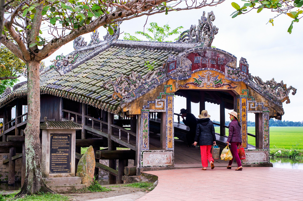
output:
<instances>
[{"instance_id":1,"label":"woman in purple jacket, maroon trousers and pale brimmed hat","mask_svg":"<svg viewBox=\"0 0 303 201\"><path fill-rule=\"evenodd\" d=\"M238 155L238 146L242 144L242 136L241 136L241 125L237 121L237 113L235 111L232 111L230 114L230 123L228 125L228 139L226 141L227 146L230 143L230 150L232 157L236 159L236 162L238 163L238 168L235 170L242 171L242 165L241 165L241 160ZM230 160L227 166L227 169L231 169L231 164L233 160Z\"/></svg>"}]
</instances>

